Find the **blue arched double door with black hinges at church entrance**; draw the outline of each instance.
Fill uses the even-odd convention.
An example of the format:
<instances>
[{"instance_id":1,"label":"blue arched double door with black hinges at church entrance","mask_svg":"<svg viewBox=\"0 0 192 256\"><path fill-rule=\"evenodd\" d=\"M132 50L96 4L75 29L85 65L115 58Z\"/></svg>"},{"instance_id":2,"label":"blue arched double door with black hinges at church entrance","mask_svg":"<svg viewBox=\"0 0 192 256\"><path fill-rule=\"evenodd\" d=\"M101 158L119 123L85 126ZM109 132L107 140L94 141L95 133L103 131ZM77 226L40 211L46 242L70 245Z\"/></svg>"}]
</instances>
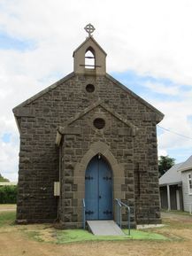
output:
<instances>
[{"instance_id":1,"label":"blue arched double door with black hinges at church entrance","mask_svg":"<svg viewBox=\"0 0 192 256\"><path fill-rule=\"evenodd\" d=\"M112 172L100 156L90 160L85 175L86 220L112 219Z\"/></svg>"}]
</instances>

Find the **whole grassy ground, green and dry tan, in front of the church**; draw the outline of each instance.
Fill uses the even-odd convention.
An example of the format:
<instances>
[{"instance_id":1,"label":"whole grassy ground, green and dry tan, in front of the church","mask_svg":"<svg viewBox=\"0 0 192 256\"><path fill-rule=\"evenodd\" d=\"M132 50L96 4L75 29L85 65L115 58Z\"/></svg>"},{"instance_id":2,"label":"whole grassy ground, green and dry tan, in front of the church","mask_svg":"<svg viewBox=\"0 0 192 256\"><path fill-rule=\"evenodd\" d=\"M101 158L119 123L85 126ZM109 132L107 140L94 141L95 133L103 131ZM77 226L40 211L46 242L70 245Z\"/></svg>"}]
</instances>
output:
<instances>
[{"instance_id":1,"label":"whole grassy ground, green and dry tan, in front of the church","mask_svg":"<svg viewBox=\"0 0 192 256\"><path fill-rule=\"evenodd\" d=\"M192 216L165 213L162 228L136 230L131 236L94 236L83 229L51 224L16 225L15 210L0 206L0 255L12 256L189 256ZM127 229L124 229L128 233Z\"/></svg>"}]
</instances>

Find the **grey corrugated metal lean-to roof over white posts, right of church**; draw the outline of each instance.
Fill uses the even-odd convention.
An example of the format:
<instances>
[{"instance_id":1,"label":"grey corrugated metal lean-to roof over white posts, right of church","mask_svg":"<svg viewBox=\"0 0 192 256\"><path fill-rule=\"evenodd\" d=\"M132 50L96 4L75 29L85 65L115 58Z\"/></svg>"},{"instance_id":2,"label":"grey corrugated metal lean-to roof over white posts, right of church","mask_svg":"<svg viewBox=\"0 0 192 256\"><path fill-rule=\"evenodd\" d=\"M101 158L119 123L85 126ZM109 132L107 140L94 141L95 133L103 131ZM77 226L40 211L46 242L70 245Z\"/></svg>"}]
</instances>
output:
<instances>
[{"instance_id":1,"label":"grey corrugated metal lean-to roof over white posts, right of church","mask_svg":"<svg viewBox=\"0 0 192 256\"><path fill-rule=\"evenodd\" d=\"M183 162L180 164L174 165L165 173L165 175L161 176L159 179L159 185L180 183L181 182L180 166L182 164Z\"/></svg>"}]
</instances>

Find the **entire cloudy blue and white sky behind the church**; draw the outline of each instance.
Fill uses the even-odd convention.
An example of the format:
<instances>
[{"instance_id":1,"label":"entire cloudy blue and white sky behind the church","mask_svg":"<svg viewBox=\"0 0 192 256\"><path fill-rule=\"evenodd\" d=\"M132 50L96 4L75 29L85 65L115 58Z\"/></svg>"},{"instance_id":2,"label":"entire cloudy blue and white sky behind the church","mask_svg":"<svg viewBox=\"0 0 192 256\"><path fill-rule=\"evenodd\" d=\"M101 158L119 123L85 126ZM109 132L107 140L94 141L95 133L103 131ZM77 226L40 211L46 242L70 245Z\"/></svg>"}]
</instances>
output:
<instances>
[{"instance_id":1,"label":"entire cloudy blue and white sky behind the church","mask_svg":"<svg viewBox=\"0 0 192 256\"><path fill-rule=\"evenodd\" d=\"M88 23L107 73L165 114L158 156L192 155L191 0L0 0L0 173L18 179L12 108L73 72ZM169 130L169 131L168 131Z\"/></svg>"}]
</instances>

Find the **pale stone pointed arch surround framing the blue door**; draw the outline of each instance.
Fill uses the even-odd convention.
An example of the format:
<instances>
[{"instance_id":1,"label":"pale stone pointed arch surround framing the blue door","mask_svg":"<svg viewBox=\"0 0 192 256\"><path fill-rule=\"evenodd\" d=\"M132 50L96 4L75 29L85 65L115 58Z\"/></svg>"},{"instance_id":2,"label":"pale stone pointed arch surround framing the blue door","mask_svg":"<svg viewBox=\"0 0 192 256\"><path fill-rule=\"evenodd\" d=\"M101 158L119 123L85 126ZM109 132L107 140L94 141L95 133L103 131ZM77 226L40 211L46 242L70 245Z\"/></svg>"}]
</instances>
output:
<instances>
[{"instance_id":1,"label":"pale stone pointed arch surround framing the blue door","mask_svg":"<svg viewBox=\"0 0 192 256\"><path fill-rule=\"evenodd\" d=\"M110 147L102 142L91 144L90 149L82 157L81 162L74 167L74 183L77 184L77 191L75 197L79 199L79 206L81 206L81 199L85 198L85 172L89 161L98 153L104 156L104 159L111 166L113 174L113 198L125 199L125 192L121 191L121 185L125 184L124 166L119 164L117 159L110 151Z\"/></svg>"}]
</instances>

